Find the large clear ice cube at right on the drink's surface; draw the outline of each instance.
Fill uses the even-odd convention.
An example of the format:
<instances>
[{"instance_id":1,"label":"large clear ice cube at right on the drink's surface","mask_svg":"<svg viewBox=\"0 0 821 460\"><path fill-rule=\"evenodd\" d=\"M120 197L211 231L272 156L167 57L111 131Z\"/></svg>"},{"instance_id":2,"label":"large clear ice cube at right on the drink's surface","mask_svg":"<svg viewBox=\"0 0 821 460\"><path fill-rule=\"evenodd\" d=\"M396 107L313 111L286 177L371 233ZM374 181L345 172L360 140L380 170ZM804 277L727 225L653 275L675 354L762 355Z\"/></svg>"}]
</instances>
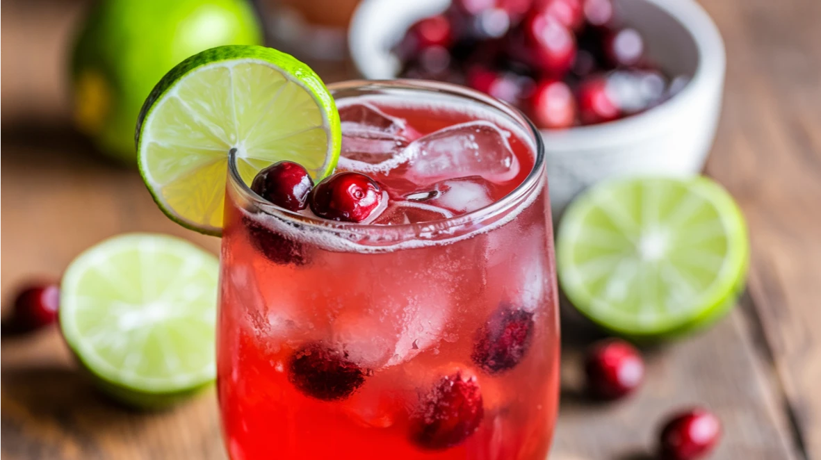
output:
<instances>
[{"instance_id":1,"label":"large clear ice cube at right on the drink's surface","mask_svg":"<svg viewBox=\"0 0 821 460\"><path fill-rule=\"evenodd\" d=\"M519 161L508 138L511 133L488 121L453 125L410 143L408 175L418 183L480 175L504 182L519 173Z\"/></svg>"}]
</instances>

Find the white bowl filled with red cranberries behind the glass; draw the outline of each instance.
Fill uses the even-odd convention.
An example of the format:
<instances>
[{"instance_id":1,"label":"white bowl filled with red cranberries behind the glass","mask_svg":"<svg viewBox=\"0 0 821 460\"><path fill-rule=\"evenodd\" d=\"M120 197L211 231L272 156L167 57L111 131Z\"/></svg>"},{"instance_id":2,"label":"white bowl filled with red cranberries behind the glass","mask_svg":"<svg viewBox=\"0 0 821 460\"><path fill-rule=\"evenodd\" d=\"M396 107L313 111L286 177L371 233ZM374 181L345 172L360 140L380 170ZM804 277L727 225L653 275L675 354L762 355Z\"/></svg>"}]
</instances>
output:
<instances>
[{"instance_id":1,"label":"white bowl filled with red cranberries behind the glass","mask_svg":"<svg viewBox=\"0 0 821 460\"><path fill-rule=\"evenodd\" d=\"M554 214L619 175L691 175L713 143L726 57L694 0L364 0L370 80L463 84L541 131Z\"/></svg>"}]
</instances>

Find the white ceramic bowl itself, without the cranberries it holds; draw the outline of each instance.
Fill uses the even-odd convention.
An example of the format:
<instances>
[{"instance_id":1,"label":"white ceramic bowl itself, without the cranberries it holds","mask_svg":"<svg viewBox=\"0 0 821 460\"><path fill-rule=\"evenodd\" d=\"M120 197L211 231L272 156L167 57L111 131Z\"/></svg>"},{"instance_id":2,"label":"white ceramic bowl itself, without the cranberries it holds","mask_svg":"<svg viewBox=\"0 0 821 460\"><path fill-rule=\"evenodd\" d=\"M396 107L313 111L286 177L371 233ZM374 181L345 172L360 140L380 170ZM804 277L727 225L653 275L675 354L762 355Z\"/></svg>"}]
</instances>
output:
<instances>
[{"instance_id":1,"label":"white ceramic bowl itself, without the cranberries it holds","mask_svg":"<svg viewBox=\"0 0 821 460\"><path fill-rule=\"evenodd\" d=\"M620 175L692 175L713 144L726 67L713 20L693 0L614 0L618 14L644 36L649 57L690 82L639 115L603 125L543 131L553 215L582 190ZM349 32L351 56L369 80L396 78L392 46L416 20L444 11L450 0L364 0Z\"/></svg>"}]
</instances>

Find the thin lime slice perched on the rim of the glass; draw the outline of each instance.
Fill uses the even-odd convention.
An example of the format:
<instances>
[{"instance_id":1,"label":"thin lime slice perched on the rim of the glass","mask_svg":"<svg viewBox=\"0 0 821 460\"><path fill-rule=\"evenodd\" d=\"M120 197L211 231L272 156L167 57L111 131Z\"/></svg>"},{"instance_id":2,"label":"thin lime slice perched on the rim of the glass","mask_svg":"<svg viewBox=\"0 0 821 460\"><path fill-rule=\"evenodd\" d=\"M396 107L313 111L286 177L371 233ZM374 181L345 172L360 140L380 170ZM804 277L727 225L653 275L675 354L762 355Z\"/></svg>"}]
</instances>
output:
<instances>
[{"instance_id":1,"label":"thin lime slice perched on the rim of the glass","mask_svg":"<svg viewBox=\"0 0 821 460\"><path fill-rule=\"evenodd\" d=\"M223 46L182 61L137 121L140 171L154 200L181 225L222 233L228 153L246 183L274 162L321 180L339 159L342 130L319 76L272 48Z\"/></svg>"}]
</instances>

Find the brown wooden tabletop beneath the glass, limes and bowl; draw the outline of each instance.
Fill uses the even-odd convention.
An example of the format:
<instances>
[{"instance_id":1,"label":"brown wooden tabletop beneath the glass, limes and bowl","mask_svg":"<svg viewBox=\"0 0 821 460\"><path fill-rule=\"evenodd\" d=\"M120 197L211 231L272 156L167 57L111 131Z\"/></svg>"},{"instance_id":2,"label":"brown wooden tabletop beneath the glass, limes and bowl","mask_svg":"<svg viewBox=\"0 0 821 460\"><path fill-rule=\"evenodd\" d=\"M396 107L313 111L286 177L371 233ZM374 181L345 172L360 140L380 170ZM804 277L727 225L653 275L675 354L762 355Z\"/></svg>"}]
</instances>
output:
<instances>
[{"instance_id":1,"label":"brown wooden tabletop beneath the glass, limes and bowl","mask_svg":"<svg viewBox=\"0 0 821 460\"><path fill-rule=\"evenodd\" d=\"M715 459L821 459L821 2L703 3L729 59L707 173L749 220L749 289L709 332L649 353L640 394L611 405L577 396L579 346L595 333L567 313L555 460L649 458L660 417L692 403L722 418ZM159 231L218 248L167 221L135 171L96 157L71 130L64 62L84 6L2 6L0 316L21 282L56 279L111 235ZM213 393L131 412L99 398L57 330L0 339L0 459L224 458Z\"/></svg>"}]
</instances>

